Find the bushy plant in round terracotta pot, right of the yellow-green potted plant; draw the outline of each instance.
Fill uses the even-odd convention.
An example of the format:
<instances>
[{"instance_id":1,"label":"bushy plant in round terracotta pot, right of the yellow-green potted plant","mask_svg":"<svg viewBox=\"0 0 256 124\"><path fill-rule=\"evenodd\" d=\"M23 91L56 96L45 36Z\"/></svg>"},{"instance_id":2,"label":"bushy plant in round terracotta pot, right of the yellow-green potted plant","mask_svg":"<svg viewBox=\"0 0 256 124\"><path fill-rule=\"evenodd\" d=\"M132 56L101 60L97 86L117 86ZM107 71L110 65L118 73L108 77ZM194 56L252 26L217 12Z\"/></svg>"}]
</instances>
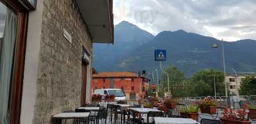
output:
<instances>
[{"instance_id":1,"label":"bushy plant in round terracotta pot, right of the yellow-green potted plant","mask_svg":"<svg viewBox=\"0 0 256 124\"><path fill-rule=\"evenodd\" d=\"M200 101L199 107L202 113L216 114L217 102L211 98L205 98Z\"/></svg>"}]
</instances>

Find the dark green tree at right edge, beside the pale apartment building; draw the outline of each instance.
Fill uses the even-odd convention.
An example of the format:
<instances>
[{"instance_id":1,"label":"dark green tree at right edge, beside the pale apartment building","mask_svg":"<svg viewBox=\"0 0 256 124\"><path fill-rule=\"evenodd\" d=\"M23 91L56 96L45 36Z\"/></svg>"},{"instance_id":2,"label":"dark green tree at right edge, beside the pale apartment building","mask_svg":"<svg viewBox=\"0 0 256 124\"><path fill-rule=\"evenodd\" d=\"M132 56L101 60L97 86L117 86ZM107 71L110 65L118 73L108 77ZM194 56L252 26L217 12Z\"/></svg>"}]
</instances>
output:
<instances>
[{"instance_id":1,"label":"dark green tree at right edge, beside the pale apartment building","mask_svg":"<svg viewBox=\"0 0 256 124\"><path fill-rule=\"evenodd\" d=\"M242 80L240 95L256 95L256 79L254 76L248 76Z\"/></svg>"}]
</instances>

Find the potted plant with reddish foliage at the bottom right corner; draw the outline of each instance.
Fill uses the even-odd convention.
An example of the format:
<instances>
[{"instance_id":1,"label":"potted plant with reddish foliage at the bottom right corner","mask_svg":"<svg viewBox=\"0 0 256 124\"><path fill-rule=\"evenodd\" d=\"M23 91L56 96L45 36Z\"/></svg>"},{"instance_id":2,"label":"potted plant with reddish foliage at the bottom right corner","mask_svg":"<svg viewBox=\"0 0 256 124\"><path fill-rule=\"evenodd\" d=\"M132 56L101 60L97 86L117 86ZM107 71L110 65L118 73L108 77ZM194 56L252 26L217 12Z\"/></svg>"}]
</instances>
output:
<instances>
[{"instance_id":1,"label":"potted plant with reddish foliage at the bottom right corner","mask_svg":"<svg viewBox=\"0 0 256 124\"><path fill-rule=\"evenodd\" d=\"M233 111L228 108L223 112L223 117L220 118L222 124L250 124L251 121L246 118L248 115L249 105L245 104L244 109Z\"/></svg>"}]
</instances>

